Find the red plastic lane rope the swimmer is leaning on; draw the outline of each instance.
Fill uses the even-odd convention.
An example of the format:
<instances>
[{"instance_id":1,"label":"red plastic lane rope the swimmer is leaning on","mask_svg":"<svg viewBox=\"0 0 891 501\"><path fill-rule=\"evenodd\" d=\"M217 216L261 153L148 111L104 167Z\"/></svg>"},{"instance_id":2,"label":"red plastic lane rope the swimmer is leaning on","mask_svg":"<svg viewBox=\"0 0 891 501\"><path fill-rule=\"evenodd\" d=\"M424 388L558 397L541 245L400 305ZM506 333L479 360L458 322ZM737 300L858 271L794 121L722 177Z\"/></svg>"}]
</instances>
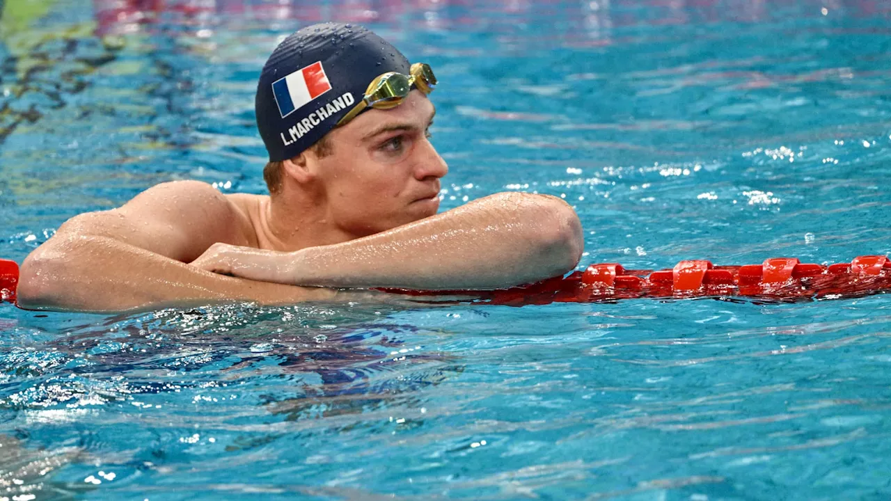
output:
<instances>
[{"instance_id":1,"label":"red plastic lane rope the swimmer is leaning on","mask_svg":"<svg viewBox=\"0 0 891 501\"><path fill-rule=\"evenodd\" d=\"M0 259L0 302L15 302L19 265ZM716 267L711 261L681 261L671 269L627 270L616 263L596 264L566 277L498 291L408 291L415 296L461 295L491 304L524 306L552 302L601 302L632 298L741 296L764 300L812 300L891 292L891 259L859 256L829 266L795 258L764 259L760 265Z\"/></svg>"}]
</instances>

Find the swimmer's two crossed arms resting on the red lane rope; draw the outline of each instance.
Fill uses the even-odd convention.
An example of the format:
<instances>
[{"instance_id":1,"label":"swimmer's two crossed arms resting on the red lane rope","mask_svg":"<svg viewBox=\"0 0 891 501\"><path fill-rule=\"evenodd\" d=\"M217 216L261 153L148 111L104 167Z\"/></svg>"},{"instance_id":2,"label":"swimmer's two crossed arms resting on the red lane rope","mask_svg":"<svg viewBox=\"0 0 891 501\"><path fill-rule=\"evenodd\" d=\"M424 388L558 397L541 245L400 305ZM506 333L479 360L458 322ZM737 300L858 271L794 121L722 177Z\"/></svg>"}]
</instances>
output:
<instances>
[{"instance_id":1,"label":"swimmer's two crossed arms resting on the red lane rope","mask_svg":"<svg viewBox=\"0 0 891 501\"><path fill-rule=\"evenodd\" d=\"M564 201L527 193L295 252L258 250L245 227L247 216L209 185L154 186L119 209L62 225L22 263L19 304L122 311L350 297L329 287L494 289L562 275L583 246Z\"/></svg>"}]
</instances>

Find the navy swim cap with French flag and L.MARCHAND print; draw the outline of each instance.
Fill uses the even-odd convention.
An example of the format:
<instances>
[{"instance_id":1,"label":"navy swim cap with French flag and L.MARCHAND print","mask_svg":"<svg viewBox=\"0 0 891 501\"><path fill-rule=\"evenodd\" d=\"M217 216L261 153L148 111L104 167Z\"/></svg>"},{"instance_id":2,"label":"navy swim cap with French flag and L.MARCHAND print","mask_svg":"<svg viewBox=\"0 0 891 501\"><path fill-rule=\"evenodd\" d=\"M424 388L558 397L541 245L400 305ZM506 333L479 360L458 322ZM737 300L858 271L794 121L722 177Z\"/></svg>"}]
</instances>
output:
<instances>
[{"instance_id":1,"label":"navy swim cap with French flag and L.MARCHAND print","mask_svg":"<svg viewBox=\"0 0 891 501\"><path fill-rule=\"evenodd\" d=\"M362 100L374 78L410 68L396 47L361 26L326 22L291 34L257 84L257 128L269 160L297 156Z\"/></svg>"}]
</instances>

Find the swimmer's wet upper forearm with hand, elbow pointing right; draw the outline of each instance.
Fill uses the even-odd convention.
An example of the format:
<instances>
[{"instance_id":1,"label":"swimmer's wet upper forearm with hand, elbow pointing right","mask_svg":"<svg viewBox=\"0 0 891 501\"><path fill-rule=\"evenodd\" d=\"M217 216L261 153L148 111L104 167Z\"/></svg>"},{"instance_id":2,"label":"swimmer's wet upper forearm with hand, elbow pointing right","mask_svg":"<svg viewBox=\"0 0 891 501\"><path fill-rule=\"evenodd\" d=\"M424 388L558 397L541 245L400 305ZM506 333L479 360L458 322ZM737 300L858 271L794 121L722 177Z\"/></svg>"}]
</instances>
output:
<instances>
[{"instance_id":1,"label":"swimmer's wet upper forearm with hand, elbow pointing right","mask_svg":"<svg viewBox=\"0 0 891 501\"><path fill-rule=\"evenodd\" d=\"M350 242L296 252L216 245L193 264L300 285L496 289L563 275L583 247L581 223L565 201L499 193Z\"/></svg>"}]
</instances>

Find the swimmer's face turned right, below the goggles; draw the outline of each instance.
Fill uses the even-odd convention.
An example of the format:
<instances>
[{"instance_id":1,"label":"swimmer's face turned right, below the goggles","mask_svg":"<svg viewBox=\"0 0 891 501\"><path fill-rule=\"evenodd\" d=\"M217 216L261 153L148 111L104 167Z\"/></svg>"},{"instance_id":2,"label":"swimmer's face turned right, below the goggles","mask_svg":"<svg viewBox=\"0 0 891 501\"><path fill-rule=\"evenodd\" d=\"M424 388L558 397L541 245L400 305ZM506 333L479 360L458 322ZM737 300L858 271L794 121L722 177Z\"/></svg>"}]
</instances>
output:
<instances>
[{"instance_id":1,"label":"swimmer's face turned right, below the goggles","mask_svg":"<svg viewBox=\"0 0 891 501\"><path fill-rule=\"evenodd\" d=\"M433 103L413 90L391 110L365 111L331 131L317 176L332 223L354 237L437 213L448 167L429 141Z\"/></svg>"}]
</instances>

